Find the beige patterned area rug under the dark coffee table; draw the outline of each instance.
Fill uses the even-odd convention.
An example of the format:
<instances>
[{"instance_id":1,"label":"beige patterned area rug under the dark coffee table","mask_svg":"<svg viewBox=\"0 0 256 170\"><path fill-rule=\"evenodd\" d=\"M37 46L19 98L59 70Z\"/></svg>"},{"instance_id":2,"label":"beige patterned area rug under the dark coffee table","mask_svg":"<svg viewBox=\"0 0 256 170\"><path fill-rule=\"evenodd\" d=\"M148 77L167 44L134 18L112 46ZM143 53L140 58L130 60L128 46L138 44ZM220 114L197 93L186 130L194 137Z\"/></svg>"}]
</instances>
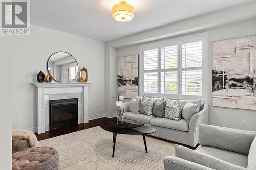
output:
<instances>
[{"instance_id":1,"label":"beige patterned area rug under the dark coffee table","mask_svg":"<svg viewBox=\"0 0 256 170\"><path fill-rule=\"evenodd\" d=\"M112 158L113 133L99 126L39 141L59 153L60 169L164 169L163 159L174 154L174 143L142 135L117 134Z\"/></svg>"}]
</instances>

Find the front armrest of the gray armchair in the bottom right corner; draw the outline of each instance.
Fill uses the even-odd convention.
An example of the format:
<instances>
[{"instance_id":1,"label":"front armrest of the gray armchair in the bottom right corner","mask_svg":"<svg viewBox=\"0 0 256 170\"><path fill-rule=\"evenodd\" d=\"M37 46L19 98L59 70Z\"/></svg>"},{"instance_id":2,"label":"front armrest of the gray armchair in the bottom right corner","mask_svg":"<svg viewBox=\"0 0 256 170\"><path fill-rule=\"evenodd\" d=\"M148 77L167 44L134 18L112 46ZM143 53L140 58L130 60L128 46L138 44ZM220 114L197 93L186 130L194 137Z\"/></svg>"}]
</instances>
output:
<instances>
[{"instance_id":1,"label":"front armrest of the gray armchair in the bottom right corner","mask_svg":"<svg viewBox=\"0 0 256 170\"><path fill-rule=\"evenodd\" d=\"M190 162L218 170L246 170L246 168L225 162L210 155L175 145L175 156Z\"/></svg>"}]
</instances>

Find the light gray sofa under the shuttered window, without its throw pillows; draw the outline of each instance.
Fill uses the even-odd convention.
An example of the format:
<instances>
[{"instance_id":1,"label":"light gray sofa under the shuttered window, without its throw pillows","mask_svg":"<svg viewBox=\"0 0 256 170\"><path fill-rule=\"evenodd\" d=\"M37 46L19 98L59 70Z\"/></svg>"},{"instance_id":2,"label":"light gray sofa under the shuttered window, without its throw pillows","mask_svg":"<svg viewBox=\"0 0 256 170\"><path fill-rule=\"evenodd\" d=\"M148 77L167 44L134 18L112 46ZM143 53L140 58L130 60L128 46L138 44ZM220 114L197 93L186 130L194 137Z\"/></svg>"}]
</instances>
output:
<instances>
[{"instance_id":1,"label":"light gray sofa under the shuttered window, without its throw pillows","mask_svg":"<svg viewBox=\"0 0 256 170\"><path fill-rule=\"evenodd\" d=\"M162 102L163 98L154 98L153 100ZM181 107L183 108L187 102L189 100L180 100ZM193 115L189 123L184 119L175 121L145 114L135 114L129 112L129 107L130 102L123 103L124 120L131 120L154 127L157 131L149 135L189 145L190 147L196 147L198 144L198 124L208 124L208 104L205 102L201 103L199 112Z\"/></svg>"}]
</instances>

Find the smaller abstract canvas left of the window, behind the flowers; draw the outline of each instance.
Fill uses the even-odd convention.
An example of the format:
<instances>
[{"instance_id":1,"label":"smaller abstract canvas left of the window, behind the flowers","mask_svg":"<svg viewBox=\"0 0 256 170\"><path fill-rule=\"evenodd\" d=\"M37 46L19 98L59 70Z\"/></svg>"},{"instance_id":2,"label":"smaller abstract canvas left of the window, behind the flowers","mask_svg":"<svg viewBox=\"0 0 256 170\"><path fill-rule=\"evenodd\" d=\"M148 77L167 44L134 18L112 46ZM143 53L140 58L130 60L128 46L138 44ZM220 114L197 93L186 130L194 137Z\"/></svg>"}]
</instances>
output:
<instances>
[{"instance_id":1,"label":"smaller abstract canvas left of the window, behind the flowers","mask_svg":"<svg viewBox=\"0 0 256 170\"><path fill-rule=\"evenodd\" d=\"M124 98L138 96L139 55L117 58L117 90Z\"/></svg>"}]
</instances>

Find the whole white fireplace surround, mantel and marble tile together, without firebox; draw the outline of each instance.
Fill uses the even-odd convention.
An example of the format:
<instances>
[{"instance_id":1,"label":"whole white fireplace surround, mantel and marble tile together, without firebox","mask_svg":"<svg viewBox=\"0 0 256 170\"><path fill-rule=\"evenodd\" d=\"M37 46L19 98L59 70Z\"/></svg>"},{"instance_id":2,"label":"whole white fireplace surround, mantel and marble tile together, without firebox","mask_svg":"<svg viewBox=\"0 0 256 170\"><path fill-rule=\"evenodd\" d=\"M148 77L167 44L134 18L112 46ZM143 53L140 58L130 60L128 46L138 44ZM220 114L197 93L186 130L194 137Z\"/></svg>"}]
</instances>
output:
<instances>
[{"instance_id":1,"label":"whole white fireplace surround, mantel and marble tile together, without firebox","mask_svg":"<svg viewBox=\"0 0 256 170\"><path fill-rule=\"evenodd\" d=\"M32 83L36 87L37 132L49 131L49 101L78 98L78 124L88 123L88 87L91 83Z\"/></svg>"}]
</instances>

